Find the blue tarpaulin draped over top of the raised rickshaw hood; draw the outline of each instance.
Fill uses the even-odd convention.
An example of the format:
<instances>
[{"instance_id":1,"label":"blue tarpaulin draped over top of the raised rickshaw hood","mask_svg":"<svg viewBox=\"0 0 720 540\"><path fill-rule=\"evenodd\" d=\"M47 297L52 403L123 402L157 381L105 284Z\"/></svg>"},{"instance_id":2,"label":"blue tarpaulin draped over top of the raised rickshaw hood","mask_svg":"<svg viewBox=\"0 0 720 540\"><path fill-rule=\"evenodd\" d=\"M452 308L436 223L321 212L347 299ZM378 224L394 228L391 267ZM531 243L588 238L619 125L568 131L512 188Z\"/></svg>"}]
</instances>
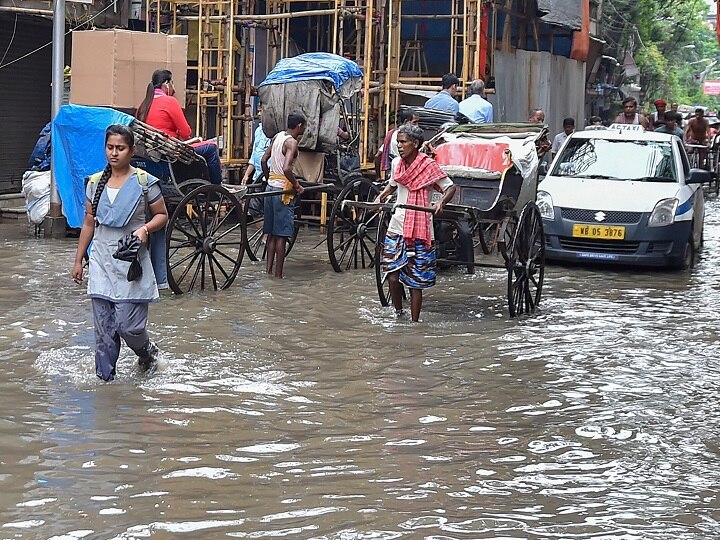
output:
<instances>
[{"instance_id":1,"label":"blue tarpaulin draped over top of the raised rickshaw hood","mask_svg":"<svg viewBox=\"0 0 720 540\"><path fill-rule=\"evenodd\" d=\"M305 53L280 60L260 86L322 79L333 83L339 92L348 79L362 76L352 60L332 53Z\"/></svg>"}]
</instances>

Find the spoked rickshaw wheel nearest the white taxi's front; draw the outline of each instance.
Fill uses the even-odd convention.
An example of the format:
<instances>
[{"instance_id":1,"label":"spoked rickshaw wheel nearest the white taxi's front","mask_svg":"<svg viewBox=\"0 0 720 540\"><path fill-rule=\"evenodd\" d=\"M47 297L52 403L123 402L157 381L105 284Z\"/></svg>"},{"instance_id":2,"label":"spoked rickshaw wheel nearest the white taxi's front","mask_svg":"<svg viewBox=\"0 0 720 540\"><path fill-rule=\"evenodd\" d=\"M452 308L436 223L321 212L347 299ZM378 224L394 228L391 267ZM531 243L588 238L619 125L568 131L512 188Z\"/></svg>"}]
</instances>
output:
<instances>
[{"instance_id":1,"label":"spoked rickshaw wheel nearest the white taxi's front","mask_svg":"<svg viewBox=\"0 0 720 540\"><path fill-rule=\"evenodd\" d=\"M527 203L520 213L506 265L510 316L533 313L540 303L545 276L545 232L534 202Z\"/></svg>"}]
</instances>

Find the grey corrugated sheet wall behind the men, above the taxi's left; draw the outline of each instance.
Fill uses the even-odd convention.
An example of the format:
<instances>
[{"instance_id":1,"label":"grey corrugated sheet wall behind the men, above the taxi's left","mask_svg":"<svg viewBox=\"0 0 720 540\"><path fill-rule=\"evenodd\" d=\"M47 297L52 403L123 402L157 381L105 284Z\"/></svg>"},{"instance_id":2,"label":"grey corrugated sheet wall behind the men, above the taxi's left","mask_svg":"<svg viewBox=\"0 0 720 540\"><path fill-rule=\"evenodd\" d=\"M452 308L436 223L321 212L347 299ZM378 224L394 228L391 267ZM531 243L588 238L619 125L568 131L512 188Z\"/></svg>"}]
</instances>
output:
<instances>
[{"instance_id":1,"label":"grey corrugated sheet wall behind the men, above the taxi's left","mask_svg":"<svg viewBox=\"0 0 720 540\"><path fill-rule=\"evenodd\" d=\"M524 122L533 108L545 111L550 137L563 118L585 125L585 63L546 52L495 51L496 94L490 96L496 122Z\"/></svg>"}]
</instances>

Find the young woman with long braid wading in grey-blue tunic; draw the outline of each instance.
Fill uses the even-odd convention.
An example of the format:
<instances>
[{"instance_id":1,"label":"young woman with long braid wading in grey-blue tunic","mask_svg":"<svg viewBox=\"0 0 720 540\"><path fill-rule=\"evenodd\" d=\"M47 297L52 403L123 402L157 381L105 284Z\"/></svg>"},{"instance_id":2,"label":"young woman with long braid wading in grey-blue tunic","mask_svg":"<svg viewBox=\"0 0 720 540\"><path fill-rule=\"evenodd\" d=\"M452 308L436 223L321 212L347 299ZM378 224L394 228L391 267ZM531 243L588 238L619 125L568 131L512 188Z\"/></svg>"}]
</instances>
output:
<instances>
[{"instance_id":1,"label":"young woman with long braid wading in grey-blue tunic","mask_svg":"<svg viewBox=\"0 0 720 540\"><path fill-rule=\"evenodd\" d=\"M92 241L88 296L95 324L95 373L104 381L115 378L120 338L138 355L144 371L155 366L158 352L146 329L148 304L159 298L147 246L150 233L165 227L167 208L158 179L130 165L134 146L135 137L126 126L113 125L105 132L108 164L87 183L85 220L72 269L73 280L82 283L83 256ZM130 235L141 243L141 271L132 273L130 263L113 257L118 241L137 247Z\"/></svg>"}]
</instances>

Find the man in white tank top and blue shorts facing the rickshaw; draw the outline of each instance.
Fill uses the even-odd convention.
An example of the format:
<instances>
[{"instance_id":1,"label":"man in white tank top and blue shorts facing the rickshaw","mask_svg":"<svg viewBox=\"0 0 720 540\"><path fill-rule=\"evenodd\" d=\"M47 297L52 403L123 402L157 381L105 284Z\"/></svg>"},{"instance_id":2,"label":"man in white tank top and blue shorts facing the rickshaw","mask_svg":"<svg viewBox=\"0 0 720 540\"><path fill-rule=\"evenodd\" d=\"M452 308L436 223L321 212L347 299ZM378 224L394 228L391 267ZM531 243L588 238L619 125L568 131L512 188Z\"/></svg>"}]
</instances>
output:
<instances>
[{"instance_id":1,"label":"man in white tank top and blue shorts facing the rickshaw","mask_svg":"<svg viewBox=\"0 0 720 540\"><path fill-rule=\"evenodd\" d=\"M298 156L298 141L305 133L305 116L300 112L288 115L287 130L281 131L270 141L261 164L268 179L266 192L295 190L300 195L303 187L295 178L293 165ZM268 161L272 163L268 166ZM265 197L265 221L263 232L267 234L266 269L269 275L283 277L286 244L295 232L295 197L292 193ZM273 273L274 268L274 273Z\"/></svg>"}]
</instances>

